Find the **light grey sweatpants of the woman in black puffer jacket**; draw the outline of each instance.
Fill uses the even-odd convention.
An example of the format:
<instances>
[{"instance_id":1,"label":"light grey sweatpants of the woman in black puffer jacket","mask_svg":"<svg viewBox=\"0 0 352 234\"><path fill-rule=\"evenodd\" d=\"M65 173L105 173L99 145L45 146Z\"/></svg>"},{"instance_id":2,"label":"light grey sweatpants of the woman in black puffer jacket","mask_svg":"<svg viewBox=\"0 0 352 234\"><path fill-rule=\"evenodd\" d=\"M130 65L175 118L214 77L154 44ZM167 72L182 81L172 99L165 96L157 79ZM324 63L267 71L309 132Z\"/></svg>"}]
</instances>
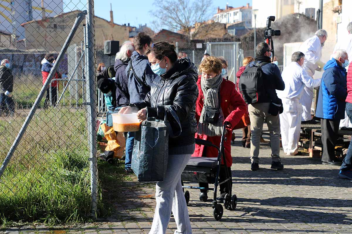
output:
<instances>
[{"instance_id":1,"label":"light grey sweatpants of the woman in black puffer jacket","mask_svg":"<svg viewBox=\"0 0 352 234\"><path fill-rule=\"evenodd\" d=\"M175 234L192 233L186 199L181 185L181 173L190 157L191 154L169 155L166 177L164 181L156 184L156 207L149 234L165 234L171 210L177 225Z\"/></svg>"}]
</instances>

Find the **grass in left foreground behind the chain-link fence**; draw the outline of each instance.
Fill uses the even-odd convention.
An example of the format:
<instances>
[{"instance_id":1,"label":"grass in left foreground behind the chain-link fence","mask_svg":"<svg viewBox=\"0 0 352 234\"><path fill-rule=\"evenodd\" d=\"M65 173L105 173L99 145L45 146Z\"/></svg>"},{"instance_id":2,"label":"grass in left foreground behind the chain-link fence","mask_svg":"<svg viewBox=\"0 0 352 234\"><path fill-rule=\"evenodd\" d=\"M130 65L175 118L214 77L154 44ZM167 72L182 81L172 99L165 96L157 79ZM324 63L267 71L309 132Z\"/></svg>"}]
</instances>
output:
<instances>
[{"instance_id":1,"label":"grass in left foreground behind the chain-link fence","mask_svg":"<svg viewBox=\"0 0 352 234\"><path fill-rule=\"evenodd\" d=\"M0 119L1 161L25 117ZM0 225L9 226L12 221L55 225L89 220L87 139L84 109L38 110L1 178ZM98 188L98 216L105 216L100 184Z\"/></svg>"}]
</instances>

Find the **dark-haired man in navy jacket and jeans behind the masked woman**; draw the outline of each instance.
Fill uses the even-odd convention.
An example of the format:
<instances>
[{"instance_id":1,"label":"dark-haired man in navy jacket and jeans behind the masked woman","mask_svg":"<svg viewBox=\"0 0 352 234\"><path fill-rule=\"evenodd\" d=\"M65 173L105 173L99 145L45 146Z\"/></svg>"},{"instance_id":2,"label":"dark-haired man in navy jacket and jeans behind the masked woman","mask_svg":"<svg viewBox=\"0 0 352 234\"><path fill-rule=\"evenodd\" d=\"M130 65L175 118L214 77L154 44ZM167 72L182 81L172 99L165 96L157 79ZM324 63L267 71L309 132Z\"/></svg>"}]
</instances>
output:
<instances>
[{"instance_id":1,"label":"dark-haired man in navy jacket and jeans behind the masked woman","mask_svg":"<svg viewBox=\"0 0 352 234\"><path fill-rule=\"evenodd\" d=\"M130 94L130 103L143 101L153 80L158 76L150 68L147 56L144 55L148 47L151 46L152 39L149 35L141 32L133 37L133 44L136 51L133 51L131 60L125 69L128 77L128 93ZM132 173L131 159L134 143L134 132L127 133L126 139L126 159L125 171Z\"/></svg>"}]
</instances>

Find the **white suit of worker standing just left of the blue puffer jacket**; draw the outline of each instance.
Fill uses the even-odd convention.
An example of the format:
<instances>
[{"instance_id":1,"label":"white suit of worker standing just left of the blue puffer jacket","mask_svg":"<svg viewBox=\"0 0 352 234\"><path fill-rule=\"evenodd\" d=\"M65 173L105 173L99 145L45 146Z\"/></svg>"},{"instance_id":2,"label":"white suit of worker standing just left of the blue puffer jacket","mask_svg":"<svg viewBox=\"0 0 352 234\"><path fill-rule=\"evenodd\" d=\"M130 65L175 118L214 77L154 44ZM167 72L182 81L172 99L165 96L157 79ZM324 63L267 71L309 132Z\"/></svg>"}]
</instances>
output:
<instances>
[{"instance_id":1,"label":"white suit of worker standing just left of the blue puffer jacket","mask_svg":"<svg viewBox=\"0 0 352 234\"><path fill-rule=\"evenodd\" d=\"M322 47L319 37L314 35L313 37L304 41L303 44L300 46L300 49L298 50L304 54L303 68L312 78L315 73L315 70L318 68L318 65L316 63L320 61L321 48ZM312 119L310 109L312 108L313 96L313 88L304 87L304 92L301 98L301 103L303 107L302 121L308 121Z\"/></svg>"}]
</instances>

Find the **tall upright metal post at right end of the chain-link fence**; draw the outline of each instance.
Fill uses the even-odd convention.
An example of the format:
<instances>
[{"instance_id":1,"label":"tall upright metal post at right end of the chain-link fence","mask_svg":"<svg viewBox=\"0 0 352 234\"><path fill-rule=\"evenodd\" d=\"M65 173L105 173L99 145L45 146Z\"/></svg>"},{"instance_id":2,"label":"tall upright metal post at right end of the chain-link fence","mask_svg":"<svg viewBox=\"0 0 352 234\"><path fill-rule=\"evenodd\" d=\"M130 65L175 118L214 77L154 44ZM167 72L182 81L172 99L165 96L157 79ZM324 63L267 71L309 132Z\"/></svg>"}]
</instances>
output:
<instances>
[{"instance_id":1,"label":"tall upright metal post at right end of the chain-link fence","mask_svg":"<svg viewBox=\"0 0 352 234\"><path fill-rule=\"evenodd\" d=\"M95 66L94 66L94 33L93 33L93 22L94 22L94 9L93 0L87 0L88 4L88 14L86 18L86 40L87 40L87 50L88 56L86 57L86 63L88 63L87 70L87 81L88 81L88 95L89 95L89 105L88 111L88 131L89 131L89 147L90 147L90 185L92 191L92 215L96 218L96 204L98 198L97 190L97 160L96 160L96 132L95 132L95 120L96 120L96 110L95 110Z\"/></svg>"}]
</instances>

